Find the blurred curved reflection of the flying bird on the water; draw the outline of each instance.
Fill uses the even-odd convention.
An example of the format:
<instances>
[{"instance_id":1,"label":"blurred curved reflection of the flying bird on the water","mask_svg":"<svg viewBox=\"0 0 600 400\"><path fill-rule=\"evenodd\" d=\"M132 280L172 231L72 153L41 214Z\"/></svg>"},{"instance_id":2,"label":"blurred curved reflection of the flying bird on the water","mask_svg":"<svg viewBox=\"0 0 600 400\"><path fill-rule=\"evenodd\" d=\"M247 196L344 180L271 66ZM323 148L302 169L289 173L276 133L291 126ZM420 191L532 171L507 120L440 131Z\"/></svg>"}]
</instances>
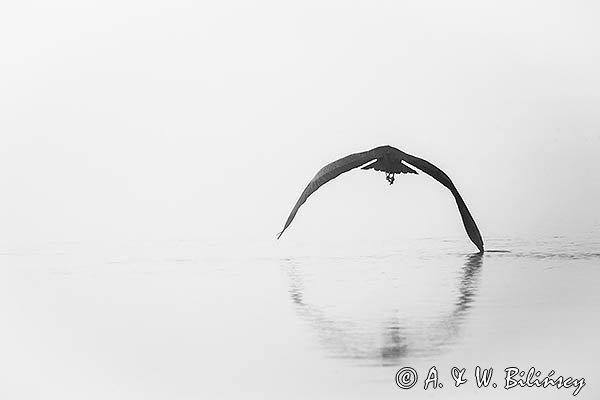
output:
<instances>
[{"instance_id":1,"label":"blurred curved reflection of the flying bird on the water","mask_svg":"<svg viewBox=\"0 0 600 400\"><path fill-rule=\"evenodd\" d=\"M290 297L300 317L317 331L323 345L336 357L396 365L406 357L438 354L460 337L469 310L477 300L483 253L468 255L460 268L461 278L457 282L457 290L453 291L458 294L458 298L451 312L440 314L431 320L414 320L402 316L403 311L408 310L410 314L410 310L414 308L391 297L392 301L389 304L395 305L391 315L387 312L382 313L385 318L375 325L370 323L370 319L336 317L329 307L305 298L306 294L310 297L310 288L306 286L306 282L311 281L306 267L313 262L310 260L304 265L297 265L298 261L286 259L282 263L289 276ZM397 271L393 265L391 267L391 271ZM402 275L396 275L400 276ZM388 278L389 276L384 280ZM377 283L375 281L375 284ZM381 341L377 340L379 337Z\"/></svg>"}]
</instances>

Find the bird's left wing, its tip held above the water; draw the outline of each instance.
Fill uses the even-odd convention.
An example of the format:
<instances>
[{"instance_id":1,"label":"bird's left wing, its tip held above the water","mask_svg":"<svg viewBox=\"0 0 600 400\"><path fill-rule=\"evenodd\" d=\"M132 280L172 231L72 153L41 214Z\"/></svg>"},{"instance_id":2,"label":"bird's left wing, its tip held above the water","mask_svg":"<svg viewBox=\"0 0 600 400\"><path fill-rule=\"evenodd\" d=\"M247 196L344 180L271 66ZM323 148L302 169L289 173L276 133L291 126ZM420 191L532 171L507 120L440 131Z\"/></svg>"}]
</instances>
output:
<instances>
[{"instance_id":1,"label":"bird's left wing, its tip held above the water","mask_svg":"<svg viewBox=\"0 0 600 400\"><path fill-rule=\"evenodd\" d=\"M302 204L304 204L304 202L306 202L306 199L308 199L308 197L311 194L313 194L318 188L320 188L330 180L343 174L344 172L348 172L354 168L358 168L361 165L364 165L369 161L376 159L379 155L376 150L377 149L373 149L363 151L362 153L350 154L349 156L340 158L339 160L336 160L321 168L319 172L317 172L315 177L312 178L312 180L308 183L308 185L300 195L300 198L296 202L296 205L292 209L292 212L290 212L287 221L285 221L283 230L277 235L277 239L279 239L283 232L287 229L287 227L290 226L290 224L294 220L294 217L296 216L296 213L298 212L298 209L300 208L300 206L302 206Z\"/></svg>"}]
</instances>

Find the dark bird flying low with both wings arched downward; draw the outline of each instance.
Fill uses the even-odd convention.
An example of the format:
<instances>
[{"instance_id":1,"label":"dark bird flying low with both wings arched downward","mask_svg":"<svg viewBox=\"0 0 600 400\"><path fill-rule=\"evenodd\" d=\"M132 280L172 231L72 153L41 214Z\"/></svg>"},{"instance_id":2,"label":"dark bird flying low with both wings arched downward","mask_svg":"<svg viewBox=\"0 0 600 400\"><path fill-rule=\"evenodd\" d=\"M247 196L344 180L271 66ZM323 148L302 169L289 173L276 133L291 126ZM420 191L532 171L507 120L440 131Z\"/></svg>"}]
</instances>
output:
<instances>
[{"instance_id":1,"label":"dark bird flying low with both wings arched downward","mask_svg":"<svg viewBox=\"0 0 600 400\"><path fill-rule=\"evenodd\" d=\"M374 162L372 162L374 161ZM366 164L366 165L365 165ZM292 209L292 212L288 216L287 221L283 227L283 230L279 233L277 238L279 239L287 227L292 223L298 209L308 197L313 194L319 187L323 186L330 180L338 177L344 172L348 172L354 168L362 166L361 169L374 169L376 171L383 171L386 173L386 179L390 183L394 183L394 174L416 174L417 171L411 168L415 167L427 175L432 176L436 181L446 186L450 192L454 195L458 210L467 230L467 235L471 241L477 246L480 252L483 252L483 239L479 233L479 229L475 224L475 220L471 216L467 205L463 201L462 197L458 193L458 190L448 177L441 169L435 165L429 163L410 154L406 154L392 146L380 146L372 150L364 151L362 153L350 154L344 158L340 158L330 164L327 164L308 183L308 186L304 189L300 198L296 202L296 205Z\"/></svg>"}]
</instances>

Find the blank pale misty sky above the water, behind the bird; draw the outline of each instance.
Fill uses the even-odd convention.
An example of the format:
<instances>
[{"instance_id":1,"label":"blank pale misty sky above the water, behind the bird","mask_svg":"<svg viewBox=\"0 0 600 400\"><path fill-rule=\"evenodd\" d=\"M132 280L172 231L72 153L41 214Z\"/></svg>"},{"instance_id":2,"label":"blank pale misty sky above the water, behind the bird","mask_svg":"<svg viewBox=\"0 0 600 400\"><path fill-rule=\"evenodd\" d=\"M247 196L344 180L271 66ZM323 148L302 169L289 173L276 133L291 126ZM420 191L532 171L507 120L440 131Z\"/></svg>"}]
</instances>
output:
<instances>
[{"instance_id":1,"label":"blank pale misty sky above the water, behind the bird","mask_svg":"<svg viewBox=\"0 0 600 400\"><path fill-rule=\"evenodd\" d=\"M592 1L0 6L0 240L274 240L390 144L486 237L600 232ZM289 242L464 235L427 176L354 171ZM466 246L469 245L465 237Z\"/></svg>"}]
</instances>

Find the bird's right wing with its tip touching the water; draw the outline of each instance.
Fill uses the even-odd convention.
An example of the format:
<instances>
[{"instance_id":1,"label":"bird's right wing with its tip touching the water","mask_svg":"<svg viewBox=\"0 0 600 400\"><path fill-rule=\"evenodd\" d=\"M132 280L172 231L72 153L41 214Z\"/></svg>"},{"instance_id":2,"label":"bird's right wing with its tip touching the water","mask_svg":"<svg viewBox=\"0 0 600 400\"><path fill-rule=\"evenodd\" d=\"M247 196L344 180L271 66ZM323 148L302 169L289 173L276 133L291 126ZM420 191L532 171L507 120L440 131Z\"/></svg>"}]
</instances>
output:
<instances>
[{"instance_id":1,"label":"bird's right wing with its tip touching the water","mask_svg":"<svg viewBox=\"0 0 600 400\"><path fill-rule=\"evenodd\" d=\"M469 239L471 239L475 246L477 246L480 252L483 252L483 239L481 238L481 233L479 233L479 228L477 228L477 224L469 212L467 205L460 196L460 193L458 193L458 189L456 189L456 186L454 186L454 183L452 183L448 175L446 175L444 171L435 165L431 164L429 161L423 160L419 157L411 156L410 154L404 152L401 153L401 157L405 162L433 177L436 181L446 186L450 192L452 192L452 195L456 200L456 205L458 206L458 211L460 212L460 216L463 220L465 230L467 231L467 235L469 235Z\"/></svg>"}]
</instances>

